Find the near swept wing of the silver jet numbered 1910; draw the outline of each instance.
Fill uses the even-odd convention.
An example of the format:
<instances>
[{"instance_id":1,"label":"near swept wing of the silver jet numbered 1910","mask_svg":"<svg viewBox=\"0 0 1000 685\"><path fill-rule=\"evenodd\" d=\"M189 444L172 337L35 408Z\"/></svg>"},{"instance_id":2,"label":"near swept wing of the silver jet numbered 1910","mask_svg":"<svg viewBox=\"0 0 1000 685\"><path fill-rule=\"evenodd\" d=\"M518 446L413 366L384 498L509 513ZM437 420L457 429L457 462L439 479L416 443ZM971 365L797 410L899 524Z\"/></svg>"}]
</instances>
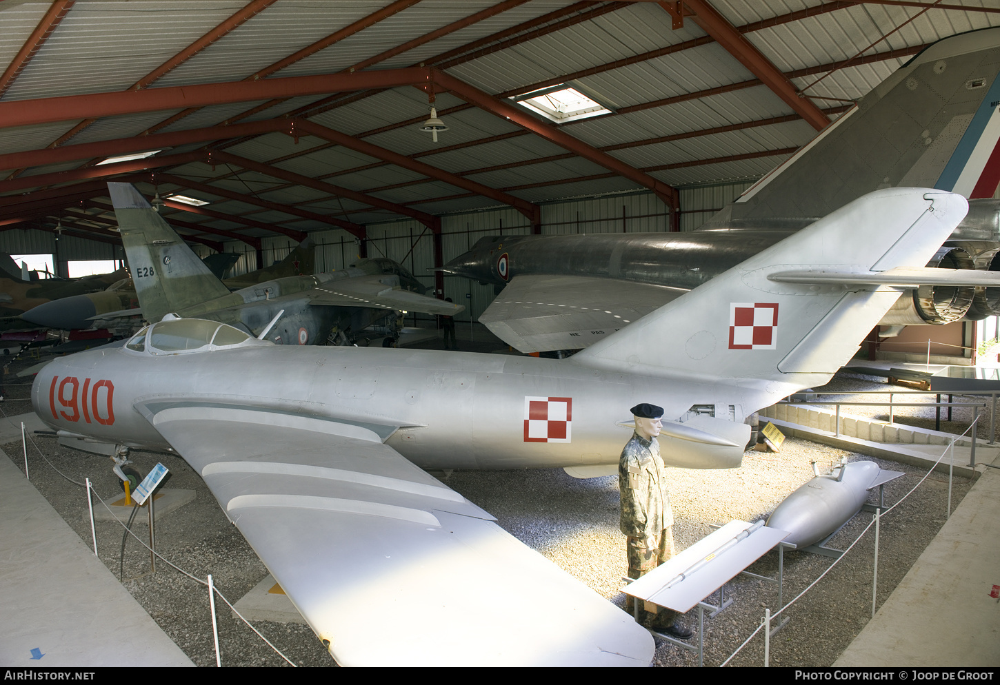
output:
<instances>
[{"instance_id":1,"label":"near swept wing of the silver jet numbered 1910","mask_svg":"<svg viewBox=\"0 0 1000 685\"><path fill-rule=\"evenodd\" d=\"M649 663L630 616L392 447L250 413L147 415L341 665Z\"/></svg>"}]
</instances>

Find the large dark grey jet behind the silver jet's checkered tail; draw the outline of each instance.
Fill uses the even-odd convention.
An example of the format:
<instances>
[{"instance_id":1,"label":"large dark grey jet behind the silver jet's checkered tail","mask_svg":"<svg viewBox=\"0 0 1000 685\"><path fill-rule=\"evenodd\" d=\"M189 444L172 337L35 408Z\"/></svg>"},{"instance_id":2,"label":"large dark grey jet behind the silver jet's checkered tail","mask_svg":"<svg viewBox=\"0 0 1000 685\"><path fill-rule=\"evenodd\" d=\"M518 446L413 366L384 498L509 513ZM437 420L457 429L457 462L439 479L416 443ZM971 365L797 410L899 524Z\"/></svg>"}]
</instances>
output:
<instances>
[{"instance_id":1,"label":"large dark grey jet behind the silver jet's checkered tail","mask_svg":"<svg viewBox=\"0 0 1000 685\"><path fill-rule=\"evenodd\" d=\"M1000 271L1000 28L944 39L886 79L693 233L492 236L444 271L505 286L479 321L524 352L578 349L865 193L932 186L973 199L927 266ZM879 322L1000 314L986 281L914 288Z\"/></svg>"}]
</instances>

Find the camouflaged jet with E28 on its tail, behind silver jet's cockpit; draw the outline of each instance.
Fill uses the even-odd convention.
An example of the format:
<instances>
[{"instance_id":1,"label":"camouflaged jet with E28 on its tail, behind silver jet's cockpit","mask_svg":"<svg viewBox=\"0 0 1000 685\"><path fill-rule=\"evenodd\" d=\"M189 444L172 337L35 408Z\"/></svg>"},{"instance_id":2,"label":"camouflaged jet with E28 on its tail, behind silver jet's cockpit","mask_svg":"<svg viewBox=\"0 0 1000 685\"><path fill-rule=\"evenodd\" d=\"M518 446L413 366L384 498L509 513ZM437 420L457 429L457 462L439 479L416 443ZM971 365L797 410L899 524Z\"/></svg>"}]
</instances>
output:
<instances>
[{"instance_id":1,"label":"camouflaged jet with E28 on its tail, behind silver jet's cockpit","mask_svg":"<svg viewBox=\"0 0 1000 685\"><path fill-rule=\"evenodd\" d=\"M423 295L391 260L364 260L332 274L264 281L230 293L135 186L109 183L122 244L147 322L202 317L283 344L353 342L397 311L454 316L464 308ZM387 330L391 337L394 329Z\"/></svg>"}]
</instances>

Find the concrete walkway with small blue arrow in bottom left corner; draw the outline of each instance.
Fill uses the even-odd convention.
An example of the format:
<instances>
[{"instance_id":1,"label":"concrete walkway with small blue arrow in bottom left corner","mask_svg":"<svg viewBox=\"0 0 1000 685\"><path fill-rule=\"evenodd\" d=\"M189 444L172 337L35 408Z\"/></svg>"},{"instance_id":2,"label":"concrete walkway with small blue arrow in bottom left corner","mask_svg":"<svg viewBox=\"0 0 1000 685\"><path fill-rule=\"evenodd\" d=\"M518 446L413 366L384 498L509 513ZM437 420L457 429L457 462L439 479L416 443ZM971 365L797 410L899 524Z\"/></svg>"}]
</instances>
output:
<instances>
[{"instance_id":1,"label":"concrete walkway with small blue arrow in bottom left corner","mask_svg":"<svg viewBox=\"0 0 1000 685\"><path fill-rule=\"evenodd\" d=\"M194 665L8 458L0 458L0 616L6 666Z\"/></svg>"}]
</instances>

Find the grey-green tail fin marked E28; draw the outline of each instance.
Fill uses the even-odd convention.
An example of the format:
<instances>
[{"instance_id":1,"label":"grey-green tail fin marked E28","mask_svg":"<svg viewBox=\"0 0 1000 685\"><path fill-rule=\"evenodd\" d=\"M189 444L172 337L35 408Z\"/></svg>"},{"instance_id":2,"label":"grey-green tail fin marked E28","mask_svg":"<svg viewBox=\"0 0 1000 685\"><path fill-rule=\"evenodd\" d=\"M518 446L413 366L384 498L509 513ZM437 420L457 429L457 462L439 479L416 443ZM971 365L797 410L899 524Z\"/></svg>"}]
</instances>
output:
<instances>
[{"instance_id":1,"label":"grey-green tail fin marked E28","mask_svg":"<svg viewBox=\"0 0 1000 685\"><path fill-rule=\"evenodd\" d=\"M129 183L109 183L122 244L132 269L139 306L153 323L206 300L229 295L226 288Z\"/></svg>"}]
</instances>

